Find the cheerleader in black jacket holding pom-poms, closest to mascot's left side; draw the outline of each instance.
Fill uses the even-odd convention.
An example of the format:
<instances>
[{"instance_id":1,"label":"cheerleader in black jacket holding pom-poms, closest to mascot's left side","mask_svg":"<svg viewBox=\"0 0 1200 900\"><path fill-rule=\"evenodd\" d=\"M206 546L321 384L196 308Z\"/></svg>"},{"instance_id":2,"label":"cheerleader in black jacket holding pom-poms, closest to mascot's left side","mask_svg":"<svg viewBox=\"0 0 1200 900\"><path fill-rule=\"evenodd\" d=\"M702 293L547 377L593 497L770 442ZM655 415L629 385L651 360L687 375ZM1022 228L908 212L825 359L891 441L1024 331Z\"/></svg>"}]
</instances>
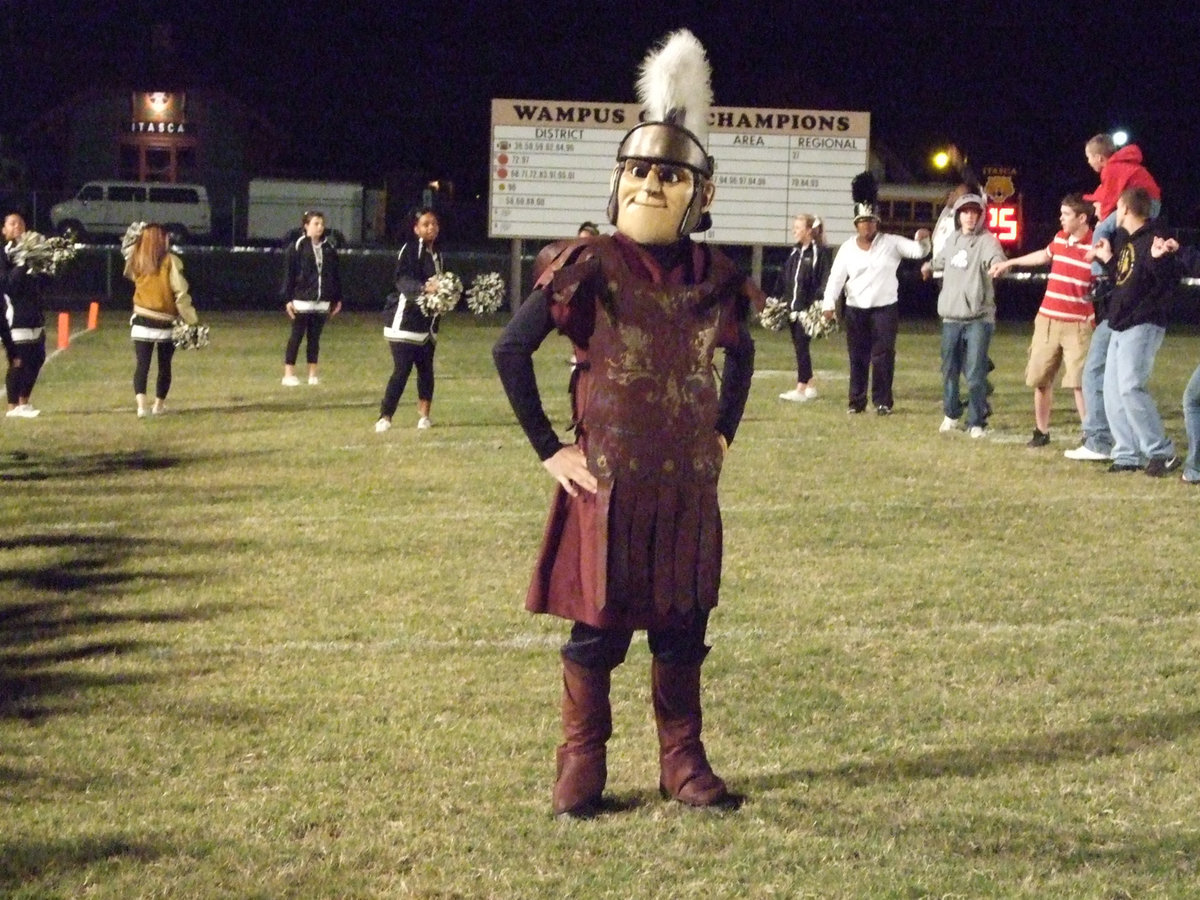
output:
<instances>
[{"instance_id":1,"label":"cheerleader in black jacket holding pom-poms, closest to mascot's left side","mask_svg":"<svg viewBox=\"0 0 1200 900\"><path fill-rule=\"evenodd\" d=\"M415 240L400 248L396 257L396 290L385 307L383 336L391 348L392 372L379 404L376 431L391 427L391 418L408 384L408 376L416 368L416 427L425 430L433 403L433 353L438 342L438 316L427 316L416 302L421 294L438 289L442 275L442 254L436 244L440 230L437 214L431 209L416 212L413 224Z\"/></svg>"}]
</instances>

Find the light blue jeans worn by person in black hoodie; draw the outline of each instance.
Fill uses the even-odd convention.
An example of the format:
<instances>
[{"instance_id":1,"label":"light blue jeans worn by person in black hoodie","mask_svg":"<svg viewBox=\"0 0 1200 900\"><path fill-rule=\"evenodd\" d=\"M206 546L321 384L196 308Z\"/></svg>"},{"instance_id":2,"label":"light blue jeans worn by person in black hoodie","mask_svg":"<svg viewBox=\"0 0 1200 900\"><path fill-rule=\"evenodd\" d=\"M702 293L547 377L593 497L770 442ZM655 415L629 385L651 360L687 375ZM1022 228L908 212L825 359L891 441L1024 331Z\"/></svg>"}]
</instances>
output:
<instances>
[{"instance_id":1,"label":"light blue jeans worn by person in black hoodie","mask_svg":"<svg viewBox=\"0 0 1200 900\"><path fill-rule=\"evenodd\" d=\"M1146 390L1165 336L1165 328L1147 324L1114 331L1109 341L1104 412L1112 428L1112 462L1118 466L1145 466L1154 457L1175 455L1154 398Z\"/></svg>"}]
</instances>

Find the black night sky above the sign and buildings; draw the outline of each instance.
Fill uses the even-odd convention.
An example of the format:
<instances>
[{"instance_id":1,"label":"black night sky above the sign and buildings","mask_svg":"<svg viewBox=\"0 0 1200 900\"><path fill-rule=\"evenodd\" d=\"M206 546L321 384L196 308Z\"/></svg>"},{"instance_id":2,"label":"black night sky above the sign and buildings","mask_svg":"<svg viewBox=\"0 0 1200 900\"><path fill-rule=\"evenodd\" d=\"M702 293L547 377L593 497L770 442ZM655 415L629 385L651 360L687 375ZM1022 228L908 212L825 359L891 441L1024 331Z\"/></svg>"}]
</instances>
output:
<instances>
[{"instance_id":1,"label":"black night sky above the sign and buildings","mask_svg":"<svg viewBox=\"0 0 1200 900\"><path fill-rule=\"evenodd\" d=\"M487 184L490 100L632 102L647 48L688 26L719 106L864 109L918 178L953 140L1019 172L1052 218L1096 176L1082 145L1123 126L1176 224L1200 226L1200 14L1193 4L0 0L8 152L88 86L217 88L293 136L289 166ZM170 23L174 53L154 48ZM719 162L719 161L718 161ZM1031 209L1031 205L1033 206Z\"/></svg>"}]
</instances>

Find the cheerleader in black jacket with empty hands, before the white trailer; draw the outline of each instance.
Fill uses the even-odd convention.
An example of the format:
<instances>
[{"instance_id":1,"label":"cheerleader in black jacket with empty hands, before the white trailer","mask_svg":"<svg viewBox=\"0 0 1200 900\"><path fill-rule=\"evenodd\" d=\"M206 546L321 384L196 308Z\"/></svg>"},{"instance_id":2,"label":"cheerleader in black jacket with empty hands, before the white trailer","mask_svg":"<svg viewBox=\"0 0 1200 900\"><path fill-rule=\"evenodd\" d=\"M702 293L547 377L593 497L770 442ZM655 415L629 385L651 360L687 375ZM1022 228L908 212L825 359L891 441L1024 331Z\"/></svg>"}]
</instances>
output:
<instances>
[{"instance_id":1,"label":"cheerleader in black jacket with empty hands, before the white trailer","mask_svg":"<svg viewBox=\"0 0 1200 900\"><path fill-rule=\"evenodd\" d=\"M325 216L304 214L304 234L288 247L283 276L283 302L292 319L292 335L283 355L283 384L294 388L300 341L307 338L308 384L320 384L317 359L325 320L342 310L342 281L337 271L337 250L325 239Z\"/></svg>"}]
</instances>

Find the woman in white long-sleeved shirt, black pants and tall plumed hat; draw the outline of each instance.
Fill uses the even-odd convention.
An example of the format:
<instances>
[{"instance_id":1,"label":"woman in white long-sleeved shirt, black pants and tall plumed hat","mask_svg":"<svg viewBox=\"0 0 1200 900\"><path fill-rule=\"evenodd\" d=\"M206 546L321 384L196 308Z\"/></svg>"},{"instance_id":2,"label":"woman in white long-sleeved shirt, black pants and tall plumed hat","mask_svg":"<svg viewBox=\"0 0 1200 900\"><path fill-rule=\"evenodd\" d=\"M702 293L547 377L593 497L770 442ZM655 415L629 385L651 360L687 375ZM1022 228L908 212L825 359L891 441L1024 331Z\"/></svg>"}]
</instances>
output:
<instances>
[{"instance_id":1,"label":"woman in white long-sleeved shirt, black pants and tall plumed hat","mask_svg":"<svg viewBox=\"0 0 1200 900\"><path fill-rule=\"evenodd\" d=\"M870 173L854 178L856 235L838 248L826 282L822 313L836 316L838 295L846 292L846 350L850 355L850 398L846 412L866 409L868 382L871 406L889 415L894 406L896 335L900 331L900 281L896 268L904 259L929 256L929 229L913 240L880 232L876 211L878 188Z\"/></svg>"}]
</instances>

